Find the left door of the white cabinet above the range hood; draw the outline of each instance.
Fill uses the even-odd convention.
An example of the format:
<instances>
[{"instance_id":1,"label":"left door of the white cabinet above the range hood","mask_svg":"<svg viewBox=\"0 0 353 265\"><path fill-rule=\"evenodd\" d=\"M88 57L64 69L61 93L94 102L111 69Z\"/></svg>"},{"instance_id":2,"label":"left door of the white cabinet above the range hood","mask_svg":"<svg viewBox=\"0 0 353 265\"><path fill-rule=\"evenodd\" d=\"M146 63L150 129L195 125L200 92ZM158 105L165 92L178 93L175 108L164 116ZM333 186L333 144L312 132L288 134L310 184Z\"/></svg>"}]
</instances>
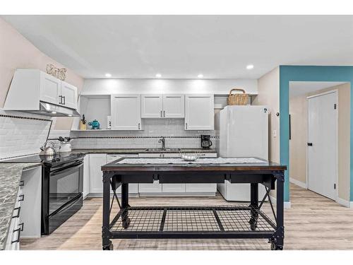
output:
<instances>
[{"instance_id":1,"label":"left door of the white cabinet above the range hood","mask_svg":"<svg viewBox=\"0 0 353 265\"><path fill-rule=\"evenodd\" d=\"M60 105L61 80L47 73L40 73L40 100Z\"/></svg>"}]
</instances>

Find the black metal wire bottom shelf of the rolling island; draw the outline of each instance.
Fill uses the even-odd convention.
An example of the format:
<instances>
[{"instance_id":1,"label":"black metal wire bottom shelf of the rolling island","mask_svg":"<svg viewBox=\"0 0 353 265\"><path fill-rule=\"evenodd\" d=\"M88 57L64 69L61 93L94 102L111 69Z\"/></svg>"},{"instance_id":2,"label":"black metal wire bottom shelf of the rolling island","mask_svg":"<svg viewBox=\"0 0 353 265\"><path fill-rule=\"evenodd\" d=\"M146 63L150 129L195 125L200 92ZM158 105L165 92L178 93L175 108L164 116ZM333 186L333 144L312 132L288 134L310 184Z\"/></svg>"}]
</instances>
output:
<instances>
[{"instance_id":1,"label":"black metal wire bottom shelf of the rolling island","mask_svg":"<svg viewBox=\"0 0 353 265\"><path fill-rule=\"evenodd\" d=\"M268 238L276 225L258 208L225 206L128 206L115 216L109 230L114 238L251 237ZM225 233L226 232L226 233ZM188 236L189 235L189 236Z\"/></svg>"}]
</instances>

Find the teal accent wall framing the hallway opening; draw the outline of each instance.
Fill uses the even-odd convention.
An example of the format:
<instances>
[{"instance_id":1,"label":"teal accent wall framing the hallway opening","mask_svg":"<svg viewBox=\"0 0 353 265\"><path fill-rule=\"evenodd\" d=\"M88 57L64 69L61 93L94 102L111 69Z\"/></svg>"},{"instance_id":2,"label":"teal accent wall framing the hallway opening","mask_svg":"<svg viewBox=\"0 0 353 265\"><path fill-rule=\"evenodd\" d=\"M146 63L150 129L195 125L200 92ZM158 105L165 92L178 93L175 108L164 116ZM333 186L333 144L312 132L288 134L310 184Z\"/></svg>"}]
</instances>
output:
<instances>
[{"instance_id":1,"label":"teal accent wall framing the hallway opening","mask_svg":"<svg viewBox=\"0 0 353 265\"><path fill-rule=\"evenodd\" d=\"M351 83L350 201L353 201L353 66L280 66L280 163L285 172L285 201L289 201L289 81Z\"/></svg>"}]
</instances>

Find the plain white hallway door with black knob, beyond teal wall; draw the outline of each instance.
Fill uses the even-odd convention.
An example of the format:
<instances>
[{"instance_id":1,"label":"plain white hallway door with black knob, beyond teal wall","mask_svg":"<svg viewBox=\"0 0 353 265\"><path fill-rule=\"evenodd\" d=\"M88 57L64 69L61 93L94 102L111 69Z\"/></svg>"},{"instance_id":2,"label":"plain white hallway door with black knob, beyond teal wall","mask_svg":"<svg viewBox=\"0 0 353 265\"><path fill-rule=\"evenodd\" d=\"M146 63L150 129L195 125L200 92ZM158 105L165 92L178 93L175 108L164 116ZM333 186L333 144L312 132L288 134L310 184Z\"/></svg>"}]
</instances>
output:
<instances>
[{"instance_id":1,"label":"plain white hallway door with black knob, beyond teal wall","mask_svg":"<svg viewBox=\"0 0 353 265\"><path fill-rule=\"evenodd\" d=\"M336 199L337 93L309 98L308 189Z\"/></svg>"}]
</instances>

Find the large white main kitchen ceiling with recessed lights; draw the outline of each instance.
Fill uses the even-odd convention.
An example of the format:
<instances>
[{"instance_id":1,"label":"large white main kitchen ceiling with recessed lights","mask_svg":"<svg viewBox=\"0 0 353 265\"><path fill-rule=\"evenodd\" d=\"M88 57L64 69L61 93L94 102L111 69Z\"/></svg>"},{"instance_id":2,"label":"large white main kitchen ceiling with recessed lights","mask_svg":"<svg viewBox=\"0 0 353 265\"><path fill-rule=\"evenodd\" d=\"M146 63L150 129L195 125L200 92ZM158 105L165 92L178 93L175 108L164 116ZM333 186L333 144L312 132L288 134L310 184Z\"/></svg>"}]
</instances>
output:
<instances>
[{"instance_id":1,"label":"large white main kitchen ceiling with recessed lights","mask_svg":"<svg viewBox=\"0 0 353 265\"><path fill-rule=\"evenodd\" d=\"M2 17L85 78L259 78L284 64L353 65L353 16Z\"/></svg>"}]
</instances>

